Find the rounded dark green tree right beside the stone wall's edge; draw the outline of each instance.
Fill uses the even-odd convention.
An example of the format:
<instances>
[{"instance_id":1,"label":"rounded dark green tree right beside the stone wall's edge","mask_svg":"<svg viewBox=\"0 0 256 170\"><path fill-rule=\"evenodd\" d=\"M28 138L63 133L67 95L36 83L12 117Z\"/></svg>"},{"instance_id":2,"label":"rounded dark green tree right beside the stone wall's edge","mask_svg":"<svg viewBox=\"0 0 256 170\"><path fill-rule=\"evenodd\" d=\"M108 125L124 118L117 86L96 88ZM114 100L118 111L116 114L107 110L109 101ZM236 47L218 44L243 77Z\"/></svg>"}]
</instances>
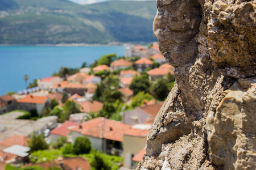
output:
<instances>
[{"instance_id":1,"label":"rounded dark green tree right beside the stone wall's edge","mask_svg":"<svg viewBox=\"0 0 256 170\"><path fill-rule=\"evenodd\" d=\"M157 79L150 87L151 94L158 100L164 100L170 92L167 83L166 79Z\"/></svg>"}]
</instances>

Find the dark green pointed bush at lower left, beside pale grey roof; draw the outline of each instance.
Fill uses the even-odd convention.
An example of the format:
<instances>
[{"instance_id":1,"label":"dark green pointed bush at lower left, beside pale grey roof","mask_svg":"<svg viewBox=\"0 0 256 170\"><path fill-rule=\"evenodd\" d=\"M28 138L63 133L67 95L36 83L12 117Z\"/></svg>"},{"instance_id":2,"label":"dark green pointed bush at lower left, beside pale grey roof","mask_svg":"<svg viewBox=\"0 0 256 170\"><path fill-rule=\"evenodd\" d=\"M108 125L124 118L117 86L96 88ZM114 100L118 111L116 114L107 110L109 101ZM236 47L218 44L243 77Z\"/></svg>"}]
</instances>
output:
<instances>
[{"instance_id":1,"label":"dark green pointed bush at lower left, beside pale grey roof","mask_svg":"<svg viewBox=\"0 0 256 170\"><path fill-rule=\"evenodd\" d=\"M44 141L43 135L36 135L35 131L32 134L30 141L28 141L28 147L30 147L30 151L38 151L38 150L47 150L48 144Z\"/></svg>"}]
</instances>

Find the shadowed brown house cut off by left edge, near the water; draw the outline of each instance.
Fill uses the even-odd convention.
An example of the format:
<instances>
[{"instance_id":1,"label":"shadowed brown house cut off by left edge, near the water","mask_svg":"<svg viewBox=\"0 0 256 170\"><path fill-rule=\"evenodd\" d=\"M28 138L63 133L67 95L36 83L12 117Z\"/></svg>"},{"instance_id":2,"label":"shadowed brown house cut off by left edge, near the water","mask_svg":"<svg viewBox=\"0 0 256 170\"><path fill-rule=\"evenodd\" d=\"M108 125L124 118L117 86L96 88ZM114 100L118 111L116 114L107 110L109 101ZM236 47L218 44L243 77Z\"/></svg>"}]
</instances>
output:
<instances>
[{"instance_id":1,"label":"shadowed brown house cut off by left edge, near the water","mask_svg":"<svg viewBox=\"0 0 256 170\"><path fill-rule=\"evenodd\" d=\"M0 105L2 105L0 109L2 108L2 111L10 112L17 109L16 99L13 96L10 96L10 95L0 96L0 102L2 103L2 104L0 103ZM1 111L0 111L0 114L1 114Z\"/></svg>"}]
</instances>

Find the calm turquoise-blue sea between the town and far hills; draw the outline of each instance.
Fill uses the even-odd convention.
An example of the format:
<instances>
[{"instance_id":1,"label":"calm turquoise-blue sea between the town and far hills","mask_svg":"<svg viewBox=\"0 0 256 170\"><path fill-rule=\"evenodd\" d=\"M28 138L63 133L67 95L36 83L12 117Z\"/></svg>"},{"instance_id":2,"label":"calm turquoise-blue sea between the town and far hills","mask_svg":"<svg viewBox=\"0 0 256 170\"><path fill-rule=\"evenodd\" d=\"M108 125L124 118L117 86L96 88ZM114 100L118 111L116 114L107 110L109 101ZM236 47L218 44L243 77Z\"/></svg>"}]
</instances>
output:
<instances>
[{"instance_id":1,"label":"calm turquoise-blue sea between the town and far hills","mask_svg":"<svg viewBox=\"0 0 256 170\"><path fill-rule=\"evenodd\" d=\"M0 46L0 95L23 90L34 79L51 76L61 66L81 67L105 54L125 55L125 46Z\"/></svg>"}]
</instances>

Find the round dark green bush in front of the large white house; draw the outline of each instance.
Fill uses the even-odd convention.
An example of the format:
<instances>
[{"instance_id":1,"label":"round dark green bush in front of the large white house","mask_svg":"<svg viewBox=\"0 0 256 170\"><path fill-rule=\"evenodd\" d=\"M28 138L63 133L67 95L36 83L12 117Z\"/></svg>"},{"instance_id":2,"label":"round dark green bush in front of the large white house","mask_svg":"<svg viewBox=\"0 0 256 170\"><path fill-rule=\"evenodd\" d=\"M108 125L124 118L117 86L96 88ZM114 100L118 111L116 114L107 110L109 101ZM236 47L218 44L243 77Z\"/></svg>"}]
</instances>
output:
<instances>
[{"instance_id":1,"label":"round dark green bush in front of the large white house","mask_svg":"<svg viewBox=\"0 0 256 170\"><path fill-rule=\"evenodd\" d=\"M91 149L92 145L88 137L77 137L73 144L73 151L76 155L89 154Z\"/></svg>"}]
</instances>

